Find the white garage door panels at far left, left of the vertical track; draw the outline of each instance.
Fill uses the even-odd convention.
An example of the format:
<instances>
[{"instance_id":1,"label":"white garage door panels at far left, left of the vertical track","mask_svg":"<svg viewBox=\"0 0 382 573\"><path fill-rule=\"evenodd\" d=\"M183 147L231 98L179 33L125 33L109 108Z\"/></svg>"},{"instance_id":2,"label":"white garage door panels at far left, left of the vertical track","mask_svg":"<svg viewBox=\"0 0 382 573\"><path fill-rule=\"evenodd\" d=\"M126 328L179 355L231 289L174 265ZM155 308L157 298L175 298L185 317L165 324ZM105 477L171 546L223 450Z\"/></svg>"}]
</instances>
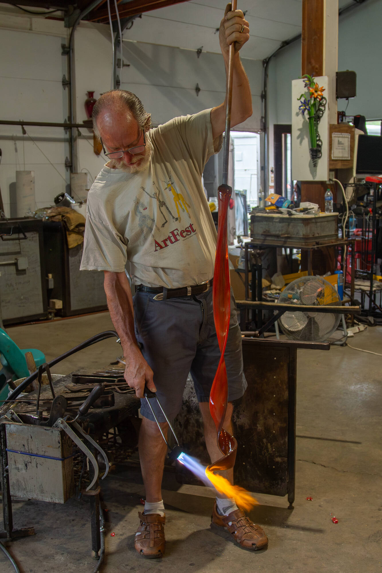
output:
<instances>
[{"instance_id":1,"label":"white garage door panels at far left, left of the vertical track","mask_svg":"<svg viewBox=\"0 0 382 573\"><path fill-rule=\"evenodd\" d=\"M61 56L61 43L65 41L65 35L46 36L27 30L1 30L0 119L64 120L64 115L68 115L67 96L61 79L63 73L66 73L66 60ZM64 166L69 148L61 141L63 129L26 127L26 132L32 138L37 136L59 140L36 140L53 163L52 166L27 135L22 141L21 127L0 125L0 186L7 215L13 212L14 205L11 207L11 204L14 203L16 170L35 171L38 207L52 202L52 198L65 189L69 182ZM19 139L14 141L14 137ZM15 145L18 153L15 152Z\"/></svg>"}]
</instances>

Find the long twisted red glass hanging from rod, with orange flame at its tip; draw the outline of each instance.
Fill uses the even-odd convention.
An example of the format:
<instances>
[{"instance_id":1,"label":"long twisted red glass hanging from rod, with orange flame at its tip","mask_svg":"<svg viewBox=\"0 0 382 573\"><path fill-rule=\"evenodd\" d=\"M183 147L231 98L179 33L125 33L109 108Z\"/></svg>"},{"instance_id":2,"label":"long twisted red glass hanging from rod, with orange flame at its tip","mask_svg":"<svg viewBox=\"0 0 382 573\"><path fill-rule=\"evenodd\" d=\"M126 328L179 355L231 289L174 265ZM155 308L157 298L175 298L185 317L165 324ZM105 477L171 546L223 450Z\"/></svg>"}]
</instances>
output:
<instances>
[{"instance_id":1,"label":"long twisted red glass hanging from rod, with orange flame at its tip","mask_svg":"<svg viewBox=\"0 0 382 573\"><path fill-rule=\"evenodd\" d=\"M215 269L213 272L213 317L217 340L219 342L220 360L213 379L209 395L209 411L215 422L217 432L217 445L223 457L206 468L205 474L213 486L226 497L233 497L236 505L243 509L250 509L256 500L245 489L234 486L224 477L213 472L233 468L236 459L236 439L223 428L228 403L228 380L225 369L224 351L227 344L229 317L231 315L231 283L229 280L227 213L232 188L220 185L218 191L219 224L217 227L217 245Z\"/></svg>"}]
</instances>

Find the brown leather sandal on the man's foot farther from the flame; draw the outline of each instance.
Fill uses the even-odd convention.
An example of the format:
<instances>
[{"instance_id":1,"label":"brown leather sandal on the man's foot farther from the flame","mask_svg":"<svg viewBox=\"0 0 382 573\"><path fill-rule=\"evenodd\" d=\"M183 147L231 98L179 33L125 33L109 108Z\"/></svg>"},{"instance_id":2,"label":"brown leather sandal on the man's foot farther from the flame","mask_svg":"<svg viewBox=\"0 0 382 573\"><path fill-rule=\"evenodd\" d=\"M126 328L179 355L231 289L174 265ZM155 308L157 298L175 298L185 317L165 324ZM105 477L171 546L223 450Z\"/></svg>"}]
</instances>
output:
<instances>
[{"instance_id":1,"label":"brown leather sandal on the man's foot farther from the flame","mask_svg":"<svg viewBox=\"0 0 382 573\"><path fill-rule=\"evenodd\" d=\"M143 557L155 559L165 553L165 523L166 517L159 513L143 515L138 512L141 523L135 535L134 547Z\"/></svg>"}]
</instances>

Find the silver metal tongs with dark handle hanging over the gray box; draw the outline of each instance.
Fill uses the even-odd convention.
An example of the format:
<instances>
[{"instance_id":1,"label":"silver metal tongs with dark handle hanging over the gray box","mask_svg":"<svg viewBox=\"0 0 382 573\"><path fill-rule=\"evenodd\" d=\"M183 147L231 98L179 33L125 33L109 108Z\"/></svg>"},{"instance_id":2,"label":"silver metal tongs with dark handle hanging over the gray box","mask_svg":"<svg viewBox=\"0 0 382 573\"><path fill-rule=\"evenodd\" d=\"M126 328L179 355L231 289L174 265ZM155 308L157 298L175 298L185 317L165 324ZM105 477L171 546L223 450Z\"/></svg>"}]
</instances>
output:
<instances>
[{"instance_id":1,"label":"silver metal tongs with dark handle hanging over the gray box","mask_svg":"<svg viewBox=\"0 0 382 573\"><path fill-rule=\"evenodd\" d=\"M110 463L109 463L107 456L106 456L106 453L103 451L103 449L100 448L100 446L97 444L97 442L95 442L88 434L84 433L83 429L76 422L76 420L80 416L84 416L85 414L87 414L87 412L88 412L89 408L92 406L92 404L100 397L100 395L103 394L105 386L106 386L106 384L102 383L102 384L98 384L97 386L95 386L95 388L93 388L93 390L88 395L88 397L85 400L85 402L83 403L83 405L79 407L78 414L76 415L76 417L73 420L68 419L69 418L68 416L65 416L65 418L59 417L56 419L56 421L52 425L52 427L54 427L54 428L64 430L65 433L67 433L68 436L73 440L73 442L75 442L75 444L80 448L81 452L83 452L85 454L85 456L91 462L91 464L94 468L94 477L93 477L91 484L89 484L88 487L86 488L87 492L89 491L89 489L91 489L93 487L93 485L98 480L99 468L98 468L98 463L96 461L96 458L93 456L93 454L91 453L91 451L89 450L87 445L84 444L83 439L87 440L89 442L89 444L91 444L93 446L93 448L98 450L98 452L103 457L103 461L105 462L105 467L106 467L105 473L102 476L103 480L104 480L104 478L106 478L106 476L108 474L108 471L110 468ZM63 396L61 396L61 397L57 396L57 398L64 398L64 397ZM64 400L65 400L65 398L64 398ZM65 400L65 402L66 402L66 400ZM76 431L74 431L73 428ZM78 435L78 434L80 434L80 435Z\"/></svg>"}]
</instances>

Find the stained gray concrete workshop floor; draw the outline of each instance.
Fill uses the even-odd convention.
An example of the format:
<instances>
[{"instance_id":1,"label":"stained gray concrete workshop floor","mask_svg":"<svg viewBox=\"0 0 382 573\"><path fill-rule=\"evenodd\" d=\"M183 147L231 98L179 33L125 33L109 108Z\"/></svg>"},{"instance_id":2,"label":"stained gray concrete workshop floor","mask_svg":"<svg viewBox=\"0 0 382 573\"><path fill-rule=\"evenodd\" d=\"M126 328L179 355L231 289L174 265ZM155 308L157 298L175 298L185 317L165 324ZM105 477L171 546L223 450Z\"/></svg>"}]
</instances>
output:
<instances>
[{"instance_id":1,"label":"stained gray concrete workshop floor","mask_svg":"<svg viewBox=\"0 0 382 573\"><path fill-rule=\"evenodd\" d=\"M20 347L34 346L47 359L111 328L107 313L9 328ZM349 342L382 354L382 327L368 328ZM107 340L57 365L65 374L98 366L120 355ZM142 559L134 551L137 511L143 495L139 468L125 466L102 482L108 509L106 557L100 573L126 571L284 571L374 573L381 570L382 457L381 356L349 347L298 351L297 470L293 511L286 498L258 495L251 517L269 537L267 551L241 549L227 533L210 529L213 500L207 488L163 480L166 555ZM313 501L306 501L306 497ZM332 514L338 524L331 521ZM14 504L16 527L34 525L37 535L7 544L22 572L92 572L88 504L28 501ZM110 533L114 532L115 536ZM0 553L0 571L11 566Z\"/></svg>"}]
</instances>

